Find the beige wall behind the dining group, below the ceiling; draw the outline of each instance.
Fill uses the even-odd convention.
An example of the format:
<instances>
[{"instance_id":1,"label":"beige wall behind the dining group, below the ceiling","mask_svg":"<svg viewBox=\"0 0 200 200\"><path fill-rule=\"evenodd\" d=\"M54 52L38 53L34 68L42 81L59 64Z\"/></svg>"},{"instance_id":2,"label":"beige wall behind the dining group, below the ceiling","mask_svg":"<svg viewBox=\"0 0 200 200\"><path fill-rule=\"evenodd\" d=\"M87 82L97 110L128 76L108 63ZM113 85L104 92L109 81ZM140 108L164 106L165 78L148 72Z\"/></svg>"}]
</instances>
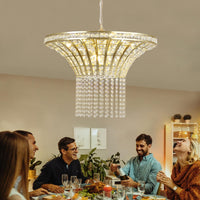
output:
<instances>
[{"instance_id":1,"label":"beige wall behind the dining group, below the ceiling","mask_svg":"<svg viewBox=\"0 0 200 200\"><path fill-rule=\"evenodd\" d=\"M23 76L0 75L0 130L24 129L34 133L43 163L58 154L57 142L73 137L74 127L107 128L107 159L119 151L127 161L136 155L135 138L142 132L153 138L152 153L164 163L164 124L180 113L200 122L200 93L127 87L125 119L74 117L75 82ZM88 152L81 150L80 153Z\"/></svg>"}]
</instances>

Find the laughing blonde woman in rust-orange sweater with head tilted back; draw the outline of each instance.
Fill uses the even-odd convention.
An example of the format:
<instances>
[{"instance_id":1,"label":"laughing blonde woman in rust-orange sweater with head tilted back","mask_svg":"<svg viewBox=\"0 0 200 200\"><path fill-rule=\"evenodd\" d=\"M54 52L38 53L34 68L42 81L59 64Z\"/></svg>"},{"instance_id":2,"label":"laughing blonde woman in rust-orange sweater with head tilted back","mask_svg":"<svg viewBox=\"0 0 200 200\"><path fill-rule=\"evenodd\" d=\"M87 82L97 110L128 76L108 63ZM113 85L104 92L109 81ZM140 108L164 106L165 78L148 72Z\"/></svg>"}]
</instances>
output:
<instances>
[{"instance_id":1,"label":"laughing blonde woman in rust-orange sweater with head tilted back","mask_svg":"<svg viewBox=\"0 0 200 200\"><path fill-rule=\"evenodd\" d=\"M200 160L199 144L196 139L179 140L174 147L177 163L171 178L158 172L157 181L167 188L167 197L171 200L200 199Z\"/></svg>"}]
</instances>

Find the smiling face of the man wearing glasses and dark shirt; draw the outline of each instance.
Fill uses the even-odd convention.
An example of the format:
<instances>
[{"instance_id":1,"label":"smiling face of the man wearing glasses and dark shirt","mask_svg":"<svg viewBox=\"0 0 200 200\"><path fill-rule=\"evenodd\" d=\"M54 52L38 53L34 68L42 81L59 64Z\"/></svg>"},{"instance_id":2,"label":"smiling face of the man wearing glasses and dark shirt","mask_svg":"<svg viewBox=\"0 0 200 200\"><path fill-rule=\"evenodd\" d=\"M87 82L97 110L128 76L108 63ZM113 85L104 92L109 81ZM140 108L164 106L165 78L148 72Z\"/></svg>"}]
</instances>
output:
<instances>
[{"instance_id":1,"label":"smiling face of the man wearing glasses and dark shirt","mask_svg":"<svg viewBox=\"0 0 200 200\"><path fill-rule=\"evenodd\" d=\"M64 160L68 162L71 162L73 160L77 160L77 153L78 153L78 147L76 146L76 143L70 143L67 145L68 150L66 149L61 149L62 152L62 157Z\"/></svg>"}]
</instances>

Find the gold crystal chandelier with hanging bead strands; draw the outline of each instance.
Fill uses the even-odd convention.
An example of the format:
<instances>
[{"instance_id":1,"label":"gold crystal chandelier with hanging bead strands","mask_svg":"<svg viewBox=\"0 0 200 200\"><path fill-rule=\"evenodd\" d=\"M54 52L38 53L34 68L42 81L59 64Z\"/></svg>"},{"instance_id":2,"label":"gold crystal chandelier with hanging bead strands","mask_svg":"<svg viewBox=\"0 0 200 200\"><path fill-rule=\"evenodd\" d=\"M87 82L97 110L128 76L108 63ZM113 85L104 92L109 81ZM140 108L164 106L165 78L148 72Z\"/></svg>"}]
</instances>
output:
<instances>
[{"instance_id":1,"label":"gold crystal chandelier with hanging bead strands","mask_svg":"<svg viewBox=\"0 0 200 200\"><path fill-rule=\"evenodd\" d=\"M44 43L60 53L76 75L77 117L124 118L126 75L136 58L157 45L155 37L100 30L48 35Z\"/></svg>"}]
</instances>

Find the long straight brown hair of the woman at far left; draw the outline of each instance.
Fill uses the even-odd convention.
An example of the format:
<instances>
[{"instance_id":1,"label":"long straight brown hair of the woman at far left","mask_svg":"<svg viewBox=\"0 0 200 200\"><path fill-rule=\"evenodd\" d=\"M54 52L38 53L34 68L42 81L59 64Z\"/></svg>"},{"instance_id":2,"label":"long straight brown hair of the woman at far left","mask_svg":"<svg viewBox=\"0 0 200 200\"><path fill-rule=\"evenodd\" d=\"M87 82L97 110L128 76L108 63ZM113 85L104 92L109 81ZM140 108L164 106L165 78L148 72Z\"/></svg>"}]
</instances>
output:
<instances>
[{"instance_id":1,"label":"long straight brown hair of the woman at far left","mask_svg":"<svg viewBox=\"0 0 200 200\"><path fill-rule=\"evenodd\" d=\"M25 137L10 131L0 132L0 198L8 199L9 193L21 176L18 190L28 196L29 145Z\"/></svg>"}]
</instances>

